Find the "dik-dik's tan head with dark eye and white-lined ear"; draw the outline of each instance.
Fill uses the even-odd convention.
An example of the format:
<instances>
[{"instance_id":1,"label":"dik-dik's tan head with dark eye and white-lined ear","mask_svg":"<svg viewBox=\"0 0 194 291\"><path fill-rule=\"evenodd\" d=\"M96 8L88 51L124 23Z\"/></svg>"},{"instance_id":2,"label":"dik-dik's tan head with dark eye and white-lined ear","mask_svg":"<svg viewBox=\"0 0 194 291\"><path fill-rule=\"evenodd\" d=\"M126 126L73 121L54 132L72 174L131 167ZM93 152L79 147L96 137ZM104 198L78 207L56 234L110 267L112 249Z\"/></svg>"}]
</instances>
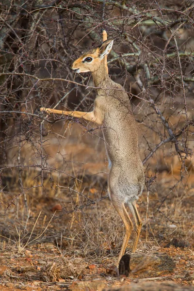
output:
<instances>
[{"instance_id":1,"label":"dik-dik's tan head with dark eye and white-lined ear","mask_svg":"<svg viewBox=\"0 0 194 291\"><path fill-rule=\"evenodd\" d=\"M109 54L112 47L113 39L105 40L101 46L82 54L82 56L73 63L72 69L76 70L77 73L94 72L100 66L104 56Z\"/></svg>"}]
</instances>

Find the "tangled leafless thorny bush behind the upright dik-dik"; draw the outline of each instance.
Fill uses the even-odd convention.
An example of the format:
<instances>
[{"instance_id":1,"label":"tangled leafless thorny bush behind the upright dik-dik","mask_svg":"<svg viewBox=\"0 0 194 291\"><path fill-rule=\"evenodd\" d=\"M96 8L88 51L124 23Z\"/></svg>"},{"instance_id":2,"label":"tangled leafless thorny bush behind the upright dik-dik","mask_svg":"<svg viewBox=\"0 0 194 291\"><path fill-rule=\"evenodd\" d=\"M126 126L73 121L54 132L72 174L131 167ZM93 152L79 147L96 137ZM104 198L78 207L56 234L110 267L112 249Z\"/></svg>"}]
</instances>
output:
<instances>
[{"instance_id":1,"label":"tangled leafless thorny bush behind the upright dik-dik","mask_svg":"<svg viewBox=\"0 0 194 291\"><path fill-rule=\"evenodd\" d=\"M80 174L64 152L74 138L69 132L73 134L75 123L80 127L76 133L96 137L96 147L103 146L100 130L82 120L47 116L38 110L41 106L92 108L95 89L90 74L75 76L71 64L101 42L101 29L114 39L109 73L128 92L140 129L148 193L155 192L155 175L180 165L179 178L158 211L193 171L193 1L4 0L0 8L0 175L2 193L9 198L1 197L2 205L9 207L22 194L27 207L26 194L34 188L41 194L48 189L69 191L71 207L64 205L66 213L106 196L106 183L100 179L98 197L82 192L84 171ZM85 137L87 143L89 138ZM8 186L13 176L18 192Z\"/></svg>"}]
</instances>

